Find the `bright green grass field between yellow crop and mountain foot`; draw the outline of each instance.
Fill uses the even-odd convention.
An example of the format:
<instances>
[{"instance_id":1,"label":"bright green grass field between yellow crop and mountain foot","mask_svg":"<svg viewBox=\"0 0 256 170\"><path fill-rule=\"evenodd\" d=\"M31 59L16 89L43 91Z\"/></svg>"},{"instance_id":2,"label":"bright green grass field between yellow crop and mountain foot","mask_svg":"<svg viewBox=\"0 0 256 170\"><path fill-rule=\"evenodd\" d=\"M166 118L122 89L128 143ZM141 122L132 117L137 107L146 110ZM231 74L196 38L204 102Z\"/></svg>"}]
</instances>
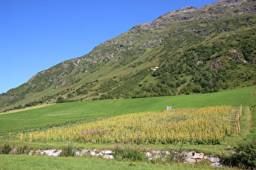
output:
<instances>
[{"instance_id":1,"label":"bright green grass field between yellow crop and mountain foot","mask_svg":"<svg viewBox=\"0 0 256 170\"><path fill-rule=\"evenodd\" d=\"M113 117L128 113L163 111L172 108L202 108L207 106L231 105L237 107L254 105L255 87L232 91L190 96L165 96L131 100L93 100L75 103L54 104L42 108L18 110L0 114L0 134L33 130L67 121Z\"/></svg>"}]
</instances>

